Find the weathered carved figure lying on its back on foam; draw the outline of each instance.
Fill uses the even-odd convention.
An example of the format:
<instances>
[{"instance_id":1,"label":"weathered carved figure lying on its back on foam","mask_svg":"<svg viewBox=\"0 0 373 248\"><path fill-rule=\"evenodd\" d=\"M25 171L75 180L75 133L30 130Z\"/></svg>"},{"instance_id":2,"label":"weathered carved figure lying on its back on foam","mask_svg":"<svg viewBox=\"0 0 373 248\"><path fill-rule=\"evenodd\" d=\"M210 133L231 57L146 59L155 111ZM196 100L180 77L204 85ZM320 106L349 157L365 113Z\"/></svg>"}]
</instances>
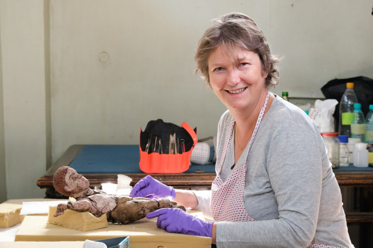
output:
<instances>
[{"instance_id":1,"label":"weathered carved figure lying on its back on foam","mask_svg":"<svg viewBox=\"0 0 373 248\"><path fill-rule=\"evenodd\" d=\"M92 189L82 174L68 166L62 166L56 171L53 186L59 193L76 199L67 204L58 204L54 217L62 215L66 209L72 209L78 212L89 211L96 217L106 214L108 222L129 224L160 208L181 208L186 211L184 206L168 198L129 197Z\"/></svg>"}]
</instances>

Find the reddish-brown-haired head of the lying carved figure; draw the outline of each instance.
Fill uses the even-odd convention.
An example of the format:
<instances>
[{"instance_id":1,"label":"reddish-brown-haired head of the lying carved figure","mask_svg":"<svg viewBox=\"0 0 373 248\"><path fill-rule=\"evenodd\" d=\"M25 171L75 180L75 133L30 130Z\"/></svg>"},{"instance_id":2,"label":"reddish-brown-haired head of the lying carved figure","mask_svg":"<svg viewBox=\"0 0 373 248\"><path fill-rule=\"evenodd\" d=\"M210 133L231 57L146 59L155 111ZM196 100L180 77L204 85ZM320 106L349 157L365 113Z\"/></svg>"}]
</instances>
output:
<instances>
[{"instance_id":1,"label":"reddish-brown-haired head of the lying carved figure","mask_svg":"<svg viewBox=\"0 0 373 248\"><path fill-rule=\"evenodd\" d=\"M61 194L74 197L74 194L86 191L90 182L73 168L62 166L53 176L53 187Z\"/></svg>"}]
</instances>

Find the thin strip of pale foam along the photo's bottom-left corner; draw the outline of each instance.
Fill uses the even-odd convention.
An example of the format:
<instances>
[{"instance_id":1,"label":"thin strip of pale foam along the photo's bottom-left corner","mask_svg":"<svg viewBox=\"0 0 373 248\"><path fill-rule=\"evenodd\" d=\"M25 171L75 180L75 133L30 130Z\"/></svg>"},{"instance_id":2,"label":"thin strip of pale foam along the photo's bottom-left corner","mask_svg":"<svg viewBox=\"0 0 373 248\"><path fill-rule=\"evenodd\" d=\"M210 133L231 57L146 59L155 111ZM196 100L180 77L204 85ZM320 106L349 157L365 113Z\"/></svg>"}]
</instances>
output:
<instances>
[{"instance_id":1,"label":"thin strip of pale foam along the photo's bottom-left corner","mask_svg":"<svg viewBox=\"0 0 373 248\"><path fill-rule=\"evenodd\" d=\"M85 248L84 241L60 242L0 242L1 248Z\"/></svg>"}]
</instances>

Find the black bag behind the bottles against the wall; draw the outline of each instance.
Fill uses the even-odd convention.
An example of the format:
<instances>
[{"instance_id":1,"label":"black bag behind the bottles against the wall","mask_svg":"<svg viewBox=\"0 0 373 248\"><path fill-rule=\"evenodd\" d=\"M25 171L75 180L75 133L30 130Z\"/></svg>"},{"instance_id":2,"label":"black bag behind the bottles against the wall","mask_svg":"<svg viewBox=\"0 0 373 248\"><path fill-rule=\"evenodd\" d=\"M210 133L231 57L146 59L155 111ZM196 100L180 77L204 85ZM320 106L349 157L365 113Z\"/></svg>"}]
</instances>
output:
<instances>
[{"instance_id":1,"label":"black bag behind the bottles against the wall","mask_svg":"<svg viewBox=\"0 0 373 248\"><path fill-rule=\"evenodd\" d=\"M346 83L354 83L354 91L358 102L362 105L362 111L365 116L369 112L369 105L373 104L373 79L364 76L333 79L327 82L321 88L321 92L326 99L336 99L338 104L334 111L335 126L339 126L339 102L346 90Z\"/></svg>"}]
</instances>

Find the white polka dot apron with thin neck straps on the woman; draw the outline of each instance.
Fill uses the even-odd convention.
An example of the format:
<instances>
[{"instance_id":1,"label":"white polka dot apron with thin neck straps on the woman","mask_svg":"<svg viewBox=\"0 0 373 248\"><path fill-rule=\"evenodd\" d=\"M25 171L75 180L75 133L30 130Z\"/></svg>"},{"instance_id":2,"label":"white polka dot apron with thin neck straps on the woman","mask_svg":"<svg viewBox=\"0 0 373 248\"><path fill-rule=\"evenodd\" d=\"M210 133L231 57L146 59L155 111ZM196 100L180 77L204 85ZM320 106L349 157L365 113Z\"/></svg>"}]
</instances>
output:
<instances>
[{"instance_id":1,"label":"white polka dot apron with thin neck straps on the woman","mask_svg":"<svg viewBox=\"0 0 373 248\"><path fill-rule=\"evenodd\" d=\"M260 111L257 123L255 125L253 134L251 136L250 142L248 144L248 151L246 153L246 159L249 156L251 145L254 141L255 135L258 131L259 125L262 122L264 112L266 111L268 99L270 96L270 92L267 94L266 101ZM229 144L231 142L233 136L233 128L235 125L235 121L232 118L230 123L230 127L228 130L227 138L225 139L223 153L221 155L217 175L212 182L211 186L211 213L214 217L215 221L254 221L252 217L246 212L244 206L244 187L245 187L245 177L246 177L246 163L241 165L240 167L236 168L231 172L226 182L220 177L221 169L224 164L225 156L227 154ZM327 246L327 245L315 245L311 244L307 248L338 248L334 246Z\"/></svg>"}]
</instances>

